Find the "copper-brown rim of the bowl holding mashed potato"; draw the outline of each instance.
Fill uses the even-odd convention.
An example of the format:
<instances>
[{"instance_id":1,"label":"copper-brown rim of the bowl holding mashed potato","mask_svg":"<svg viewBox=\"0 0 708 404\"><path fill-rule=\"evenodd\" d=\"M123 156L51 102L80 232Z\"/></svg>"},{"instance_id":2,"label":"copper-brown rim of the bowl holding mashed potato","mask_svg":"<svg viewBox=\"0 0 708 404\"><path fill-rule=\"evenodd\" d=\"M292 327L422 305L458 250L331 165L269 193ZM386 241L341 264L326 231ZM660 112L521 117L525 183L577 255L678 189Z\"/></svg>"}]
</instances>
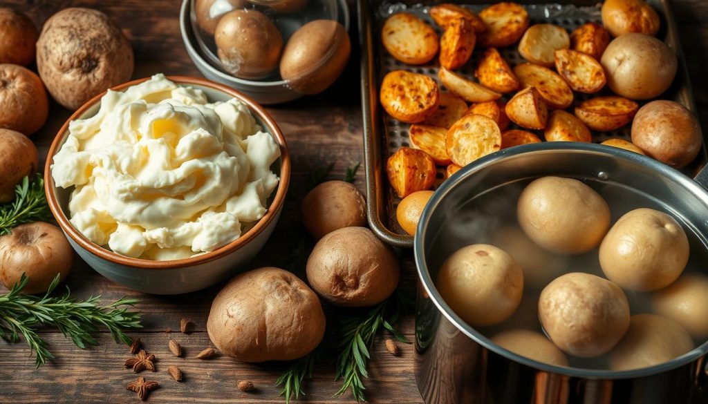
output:
<instances>
[{"instance_id":1,"label":"copper-brown rim of the bowl holding mashed potato","mask_svg":"<svg viewBox=\"0 0 708 404\"><path fill-rule=\"evenodd\" d=\"M91 100L84 103L84 105L81 105L81 107L76 110L76 112L74 112L71 117L69 117L67 122L64 122L64 125L62 125L62 128L59 129L59 132L57 133L54 142L52 142L49 154L47 154L47 163L45 163L44 172L45 193L47 194L47 202L49 202L49 207L52 211L52 214L54 214L55 219L57 219L59 226L62 228L62 230L64 230L65 233L67 233L69 237L72 238L75 243L79 244L81 248L88 250L93 255L97 255L98 257L103 258L104 260L108 260L116 264L127 265L130 267L145 268L150 270L173 269L178 267L200 265L205 262L210 262L212 260L216 260L217 258L224 257L225 255L228 255L238 250L242 246L245 246L247 243L249 243L249 241L253 240L253 238L256 238L258 234L265 230L268 224L270 224L270 222L275 219L278 214L278 211L282 207L282 204L285 202L285 193L287 192L287 185L290 183L290 154L288 154L287 152L287 144L285 143L285 137L283 137L282 132L280 132L280 128L275 123L275 120L273 120L273 117L270 117L268 112L265 112L261 105L258 105L256 101L252 100L249 96L246 96L243 93L234 90L233 88L224 86L219 83L215 83L213 81L209 81L207 79L199 79L187 76L166 76L166 78L181 85L195 84L198 86L213 88L215 90L222 91L223 93L226 93L229 96L238 98L241 102L248 105L251 112L257 115L263 121L266 126L266 129L268 129L268 132L270 132L270 134L275 138L275 142L278 143L278 146L280 146L280 181L278 183L278 190L275 193L275 198L273 198L273 203L270 204L268 210L265 211L265 214L263 215L263 217L261 217L261 219L258 220L256 225L253 226L253 228L249 229L249 231L246 231L245 234L242 234L239 238L236 238L236 240L232 241L226 246L217 248L216 250L213 250L210 253L205 253L191 258L183 258L181 260L169 261L143 260L140 258L130 258L126 257L125 255L113 253L113 251L107 250L91 242L83 234L79 233L79 231L77 231L71 223L69 223L69 219L67 219L61 207L59 207L59 202L57 201L57 196L55 193L56 186L54 183L54 178L52 178L52 171L50 168L50 166L52 165L52 159L57 153L57 149L59 149L59 144L62 144L64 142L64 138L66 137L64 136L64 134L68 133L69 122L77 119L79 116L84 114L86 110L89 110L89 108L96 105L96 103L101 100L101 97L103 97L108 91L103 91L103 93L98 94L98 96L91 98ZM122 83L118 86L111 87L110 89L113 91L120 91L147 80L149 80L149 77L128 81L127 83Z\"/></svg>"}]
</instances>

